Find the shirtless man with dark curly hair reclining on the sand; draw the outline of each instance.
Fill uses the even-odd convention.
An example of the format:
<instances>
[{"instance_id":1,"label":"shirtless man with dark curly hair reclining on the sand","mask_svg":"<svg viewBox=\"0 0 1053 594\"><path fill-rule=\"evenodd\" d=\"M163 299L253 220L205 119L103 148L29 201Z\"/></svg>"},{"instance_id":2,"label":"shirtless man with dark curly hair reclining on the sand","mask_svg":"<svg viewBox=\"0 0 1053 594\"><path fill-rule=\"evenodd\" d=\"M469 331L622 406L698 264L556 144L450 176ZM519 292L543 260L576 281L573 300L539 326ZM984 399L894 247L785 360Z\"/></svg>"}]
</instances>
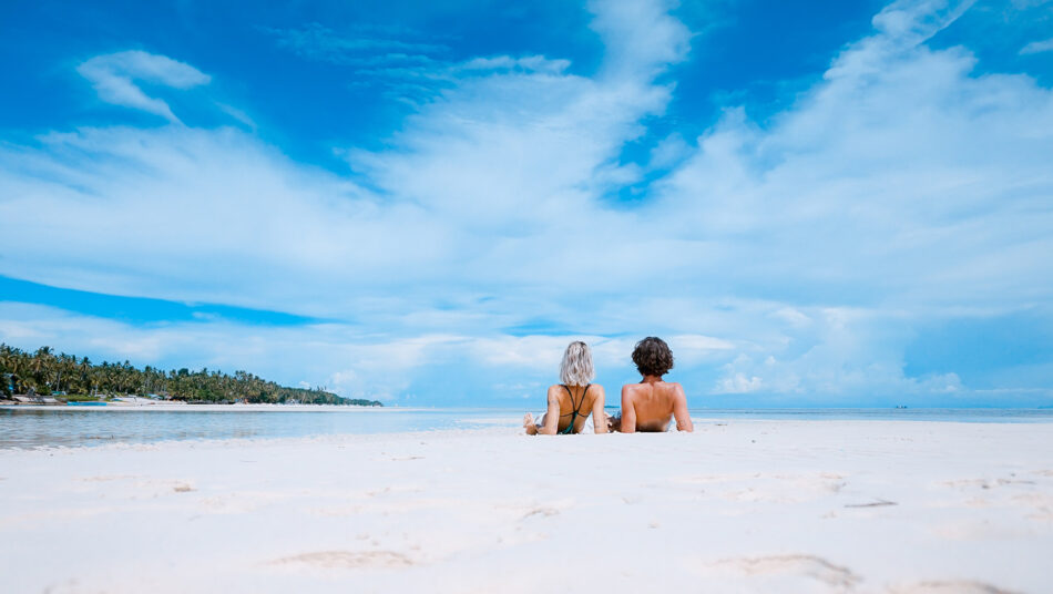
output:
<instances>
[{"instance_id":1,"label":"shirtless man with dark curly hair reclining on the sand","mask_svg":"<svg viewBox=\"0 0 1053 594\"><path fill-rule=\"evenodd\" d=\"M633 349L633 362L643 379L622 386L622 414L609 419L612 431L668 431L676 419L676 429L694 431L687 413L687 397L679 383L663 381L673 369L673 351L665 340L648 336Z\"/></svg>"}]
</instances>

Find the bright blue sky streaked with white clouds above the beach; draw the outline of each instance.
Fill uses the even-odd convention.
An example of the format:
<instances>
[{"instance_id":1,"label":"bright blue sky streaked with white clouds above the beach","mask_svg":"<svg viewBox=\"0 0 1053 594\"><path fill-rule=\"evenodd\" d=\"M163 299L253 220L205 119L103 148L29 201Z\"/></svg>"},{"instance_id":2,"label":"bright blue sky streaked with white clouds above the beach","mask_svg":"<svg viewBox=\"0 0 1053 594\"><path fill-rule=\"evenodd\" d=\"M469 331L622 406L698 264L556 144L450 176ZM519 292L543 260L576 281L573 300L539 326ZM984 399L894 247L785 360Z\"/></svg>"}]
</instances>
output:
<instances>
[{"instance_id":1,"label":"bright blue sky streaked with white clouds above the beach","mask_svg":"<svg viewBox=\"0 0 1053 594\"><path fill-rule=\"evenodd\" d=\"M521 3L522 4L522 3ZM1053 2L8 2L0 340L539 406L1053 404Z\"/></svg>"}]
</instances>

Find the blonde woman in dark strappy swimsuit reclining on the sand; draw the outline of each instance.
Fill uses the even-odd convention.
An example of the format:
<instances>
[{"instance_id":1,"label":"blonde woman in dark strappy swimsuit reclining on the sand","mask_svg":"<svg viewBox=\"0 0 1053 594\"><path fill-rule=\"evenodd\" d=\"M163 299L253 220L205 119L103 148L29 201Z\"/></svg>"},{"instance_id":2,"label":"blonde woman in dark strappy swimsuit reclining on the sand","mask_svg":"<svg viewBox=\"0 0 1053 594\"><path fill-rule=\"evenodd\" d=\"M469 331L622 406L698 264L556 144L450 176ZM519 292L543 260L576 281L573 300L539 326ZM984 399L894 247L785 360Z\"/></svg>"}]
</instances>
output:
<instances>
[{"instance_id":1,"label":"blonde woman in dark strappy swimsuit reclining on the sand","mask_svg":"<svg viewBox=\"0 0 1053 594\"><path fill-rule=\"evenodd\" d=\"M607 432L606 414L603 412L603 386L590 383L596 377L592 367L592 350L589 345L576 340L563 352L560 363L560 381L549 387L549 410L538 423L528 412L523 417L523 428L528 436L581 433L585 421L592 414L592 424L596 433Z\"/></svg>"}]
</instances>

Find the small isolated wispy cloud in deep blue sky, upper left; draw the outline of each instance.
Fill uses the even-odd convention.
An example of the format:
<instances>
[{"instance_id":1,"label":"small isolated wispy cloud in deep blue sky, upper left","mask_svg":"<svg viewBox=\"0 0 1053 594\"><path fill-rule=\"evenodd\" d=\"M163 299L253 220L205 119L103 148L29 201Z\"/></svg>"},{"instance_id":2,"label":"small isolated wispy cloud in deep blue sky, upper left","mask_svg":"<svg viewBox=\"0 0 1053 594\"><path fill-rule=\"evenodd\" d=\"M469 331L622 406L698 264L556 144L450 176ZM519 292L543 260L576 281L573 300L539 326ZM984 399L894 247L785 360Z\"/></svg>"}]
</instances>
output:
<instances>
[{"instance_id":1,"label":"small isolated wispy cloud in deep blue sky, upper left","mask_svg":"<svg viewBox=\"0 0 1053 594\"><path fill-rule=\"evenodd\" d=\"M139 50L96 55L79 65L76 71L92 83L100 100L143 110L170 122L178 122L178 119L168 104L146 95L136 81L191 89L211 80L190 64Z\"/></svg>"}]
</instances>

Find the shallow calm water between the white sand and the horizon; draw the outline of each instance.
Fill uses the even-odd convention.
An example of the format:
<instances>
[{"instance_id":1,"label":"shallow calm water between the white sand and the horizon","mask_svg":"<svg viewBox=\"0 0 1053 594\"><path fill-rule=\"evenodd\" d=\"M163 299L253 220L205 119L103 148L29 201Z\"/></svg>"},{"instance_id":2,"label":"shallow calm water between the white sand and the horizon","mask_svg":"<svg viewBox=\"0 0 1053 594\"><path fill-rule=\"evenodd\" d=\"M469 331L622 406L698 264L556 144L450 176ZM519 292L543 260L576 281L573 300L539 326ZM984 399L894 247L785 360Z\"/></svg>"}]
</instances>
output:
<instances>
[{"instance_id":1,"label":"shallow calm water between the white sand and the horizon","mask_svg":"<svg viewBox=\"0 0 1053 594\"><path fill-rule=\"evenodd\" d=\"M908 420L954 422L1053 422L1053 409L695 409L696 422L783 420ZM296 438L392 433L483 427L517 428L513 409L318 410L47 410L0 408L0 449L147 443L168 440Z\"/></svg>"}]
</instances>

